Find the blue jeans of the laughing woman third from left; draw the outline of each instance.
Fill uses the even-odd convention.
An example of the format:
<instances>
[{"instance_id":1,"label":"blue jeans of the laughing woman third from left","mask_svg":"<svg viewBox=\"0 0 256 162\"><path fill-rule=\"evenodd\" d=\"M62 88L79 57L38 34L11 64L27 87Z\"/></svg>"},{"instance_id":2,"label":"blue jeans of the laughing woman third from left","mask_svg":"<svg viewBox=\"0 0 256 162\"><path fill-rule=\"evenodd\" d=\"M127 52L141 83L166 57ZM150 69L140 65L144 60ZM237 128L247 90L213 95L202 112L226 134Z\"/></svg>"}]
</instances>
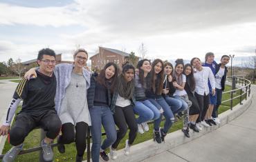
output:
<instances>
[{"instance_id":1,"label":"blue jeans of the laughing woman third from left","mask_svg":"<svg viewBox=\"0 0 256 162\"><path fill-rule=\"evenodd\" d=\"M93 106L89 109L91 115L91 136L93 145L91 147L91 158L98 162L100 158L101 129L102 125L107 134L101 148L105 150L116 141L116 125L113 121L113 113L107 106Z\"/></svg>"}]
</instances>

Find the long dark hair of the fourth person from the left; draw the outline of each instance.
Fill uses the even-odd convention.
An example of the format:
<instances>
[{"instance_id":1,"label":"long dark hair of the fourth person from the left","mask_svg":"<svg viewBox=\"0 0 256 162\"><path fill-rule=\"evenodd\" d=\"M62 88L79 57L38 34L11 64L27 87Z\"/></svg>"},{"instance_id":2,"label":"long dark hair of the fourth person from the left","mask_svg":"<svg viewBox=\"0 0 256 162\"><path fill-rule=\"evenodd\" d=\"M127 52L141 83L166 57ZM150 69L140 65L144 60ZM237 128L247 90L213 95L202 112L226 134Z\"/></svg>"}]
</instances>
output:
<instances>
[{"instance_id":1,"label":"long dark hair of the fourth person from the left","mask_svg":"<svg viewBox=\"0 0 256 162\"><path fill-rule=\"evenodd\" d=\"M120 97L123 97L125 99L131 99L134 94L134 79L127 82L125 81L125 72L132 69L135 74L135 68L134 65L131 65L129 63L122 65L122 74L118 77L118 85L117 85L117 92L120 95Z\"/></svg>"}]
</instances>

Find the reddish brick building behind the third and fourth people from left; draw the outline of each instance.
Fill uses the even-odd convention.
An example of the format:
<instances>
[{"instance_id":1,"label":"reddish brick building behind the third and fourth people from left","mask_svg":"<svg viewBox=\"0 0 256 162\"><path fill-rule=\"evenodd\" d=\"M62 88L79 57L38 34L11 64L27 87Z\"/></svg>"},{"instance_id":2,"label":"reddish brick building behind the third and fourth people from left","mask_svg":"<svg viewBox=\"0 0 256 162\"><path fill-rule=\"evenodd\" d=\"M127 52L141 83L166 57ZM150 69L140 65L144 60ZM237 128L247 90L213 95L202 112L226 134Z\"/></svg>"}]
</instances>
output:
<instances>
[{"instance_id":1,"label":"reddish brick building behind the third and fourth people from left","mask_svg":"<svg viewBox=\"0 0 256 162\"><path fill-rule=\"evenodd\" d=\"M90 57L91 69L102 69L106 63L114 62L119 67L122 67L122 63L129 60L129 53L122 52L111 48L99 47L99 53ZM138 61L138 57L136 57Z\"/></svg>"}]
</instances>

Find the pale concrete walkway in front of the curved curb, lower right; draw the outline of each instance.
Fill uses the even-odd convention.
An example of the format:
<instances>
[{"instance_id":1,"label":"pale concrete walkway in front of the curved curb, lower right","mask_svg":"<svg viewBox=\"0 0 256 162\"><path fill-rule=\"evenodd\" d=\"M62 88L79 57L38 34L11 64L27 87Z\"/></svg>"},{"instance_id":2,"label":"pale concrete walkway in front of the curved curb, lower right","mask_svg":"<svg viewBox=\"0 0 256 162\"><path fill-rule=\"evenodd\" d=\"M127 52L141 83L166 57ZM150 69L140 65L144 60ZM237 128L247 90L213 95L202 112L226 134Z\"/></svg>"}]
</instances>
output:
<instances>
[{"instance_id":1,"label":"pale concrete walkway in front of the curved curb, lower right","mask_svg":"<svg viewBox=\"0 0 256 162\"><path fill-rule=\"evenodd\" d=\"M143 162L256 161L256 86L253 103L237 119L193 141Z\"/></svg>"}]
</instances>

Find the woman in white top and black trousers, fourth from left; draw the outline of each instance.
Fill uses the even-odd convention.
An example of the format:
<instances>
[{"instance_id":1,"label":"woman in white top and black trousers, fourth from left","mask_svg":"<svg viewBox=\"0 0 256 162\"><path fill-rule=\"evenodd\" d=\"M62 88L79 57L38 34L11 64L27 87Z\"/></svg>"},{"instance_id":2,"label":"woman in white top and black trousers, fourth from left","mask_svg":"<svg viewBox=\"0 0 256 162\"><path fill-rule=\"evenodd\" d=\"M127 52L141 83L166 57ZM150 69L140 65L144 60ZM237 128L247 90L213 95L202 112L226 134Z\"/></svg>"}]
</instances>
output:
<instances>
[{"instance_id":1,"label":"woman in white top and black trousers, fourth from left","mask_svg":"<svg viewBox=\"0 0 256 162\"><path fill-rule=\"evenodd\" d=\"M125 141L125 154L129 155L131 144L136 138L138 125L134 115L133 107L135 105L134 96L134 74L133 65L126 63L122 65L122 74L118 77L118 85L113 94L111 108L115 108L113 119L118 126L117 139L110 147L111 159L116 159L116 148L127 133L127 125L129 128L129 139Z\"/></svg>"}]
</instances>

